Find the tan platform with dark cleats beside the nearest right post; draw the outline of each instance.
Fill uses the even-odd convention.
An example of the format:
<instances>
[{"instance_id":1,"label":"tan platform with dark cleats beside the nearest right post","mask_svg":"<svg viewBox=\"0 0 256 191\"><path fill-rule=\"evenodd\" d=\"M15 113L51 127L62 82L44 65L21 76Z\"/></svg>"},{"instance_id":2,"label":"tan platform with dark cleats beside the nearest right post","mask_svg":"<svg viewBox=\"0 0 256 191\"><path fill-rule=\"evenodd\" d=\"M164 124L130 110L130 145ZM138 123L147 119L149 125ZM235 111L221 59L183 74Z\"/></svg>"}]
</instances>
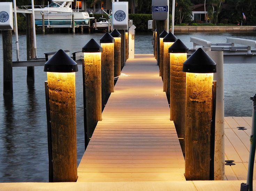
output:
<instances>
[{"instance_id":1,"label":"tan platform with dark cleats beside the nearest right post","mask_svg":"<svg viewBox=\"0 0 256 191\"><path fill-rule=\"evenodd\" d=\"M234 160L236 164L225 165L226 180L245 180L247 177L251 122L251 117L225 117L225 160ZM247 130L238 130L237 127L245 127ZM254 180L256 180L256 163Z\"/></svg>"}]
</instances>

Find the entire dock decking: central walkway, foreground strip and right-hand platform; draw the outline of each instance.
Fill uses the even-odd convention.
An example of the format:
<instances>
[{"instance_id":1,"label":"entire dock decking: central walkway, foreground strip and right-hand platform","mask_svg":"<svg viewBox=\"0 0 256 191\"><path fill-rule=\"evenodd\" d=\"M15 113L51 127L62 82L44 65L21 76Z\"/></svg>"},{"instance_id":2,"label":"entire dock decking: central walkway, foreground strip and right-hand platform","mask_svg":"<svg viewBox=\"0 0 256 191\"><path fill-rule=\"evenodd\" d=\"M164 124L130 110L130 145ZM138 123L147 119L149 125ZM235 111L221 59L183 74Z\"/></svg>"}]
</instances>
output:
<instances>
[{"instance_id":1,"label":"entire dock decking: central walkway, foreground strip and right-hand platform","mask_svg":"<svg viewBox=\"0 0 256 191\"><path fill-rule=\"evenodd\" d=\"M184 158L153 55L135 55L122 72L79 164L77 182L0 183L0 190L240 190L247 177L252 118L225 117L225 158L236 164L225 166L227 181L185 181ZM256 189L256 181L253 185Z\"/></svg>"}]
</instances>

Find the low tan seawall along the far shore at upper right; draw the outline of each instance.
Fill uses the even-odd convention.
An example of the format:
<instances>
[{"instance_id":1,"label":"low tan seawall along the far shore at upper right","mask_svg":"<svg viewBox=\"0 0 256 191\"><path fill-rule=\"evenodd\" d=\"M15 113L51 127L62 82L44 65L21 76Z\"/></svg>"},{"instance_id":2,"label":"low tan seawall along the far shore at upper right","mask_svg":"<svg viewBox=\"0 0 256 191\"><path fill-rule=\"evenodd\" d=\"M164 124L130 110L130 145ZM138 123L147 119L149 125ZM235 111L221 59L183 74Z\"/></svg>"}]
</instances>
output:
<instances>
[{"instance_id":1,"label":"low tan seawall along the far shore at upper right","mask_svg":"<svg viewBox=\"0 0 256 191\"><path fill-rule=\"evenodd\" d=\"M170 29L171 31L171 29ZM253 32L256 26L174 26L174 32Z\"/></svg>"}]
</instances>

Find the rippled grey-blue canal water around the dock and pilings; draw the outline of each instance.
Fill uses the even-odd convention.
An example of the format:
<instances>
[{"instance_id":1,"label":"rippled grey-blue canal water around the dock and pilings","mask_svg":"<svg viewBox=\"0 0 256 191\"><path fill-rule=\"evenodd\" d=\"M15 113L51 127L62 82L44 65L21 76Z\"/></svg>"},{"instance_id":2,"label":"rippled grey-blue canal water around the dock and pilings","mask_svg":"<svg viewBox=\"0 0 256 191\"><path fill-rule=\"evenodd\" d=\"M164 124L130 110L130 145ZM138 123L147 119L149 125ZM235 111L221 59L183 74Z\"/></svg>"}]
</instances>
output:
<instances>
[{"instance_id":1,"label":"rippled grey-blue canal water around the dock and pilings","mask_svg":"<svg viewBox=\"0 0 256 191\"><path fill-rule=\"evenodd\" d=\"M59 49L80 51L94 38L103 34L37 35L37 55ZM254 33L186 33L176 34L189 48L189 37L199 37L213 43L226 42L226 37L256 40ZM152 35L136 34L135 53L152 53ZM13 60L16 60L13 36ZM26 59L26 36L19 36L20 57ZM0 38L0 68L2 68L2 38ZM224 64L225 116L251 116L249 97L256 93L255 64ZM2 72L0 72L1 79ZM82 68L76 73L77 153L78 163L84 153ZM45 90L46 72L35 67L35 83L26 84L26 68L13 68L13 98L3 98L0 80L0 182L47 182L48 151Z\"/></svg>"}]
</instances>

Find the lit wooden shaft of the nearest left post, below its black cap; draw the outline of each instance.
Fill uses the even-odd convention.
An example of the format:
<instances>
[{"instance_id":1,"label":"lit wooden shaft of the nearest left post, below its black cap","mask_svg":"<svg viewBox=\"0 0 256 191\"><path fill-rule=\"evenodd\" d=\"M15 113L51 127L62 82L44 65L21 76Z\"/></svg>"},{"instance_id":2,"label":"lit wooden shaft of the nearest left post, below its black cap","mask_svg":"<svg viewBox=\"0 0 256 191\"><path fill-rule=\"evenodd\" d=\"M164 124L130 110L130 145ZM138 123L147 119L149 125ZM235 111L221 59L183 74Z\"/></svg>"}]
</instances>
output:
<instances>
[{"instance_id":1,"label":"lit wooden shaft of the nearest left post, below its black cap","mask_svg":"<svg viewBox=\"0 0 256 191\"><path fill-rule=\"evenodd\" d=\"M53 181L76 181L75 72L47 72L47 83L53 145L53 172L55 174ZM68 137L72 139L68 139ZM70 173L63 175L63 169L67 170L66 167L69 167Z\"/></svg>"}]
</instances>

